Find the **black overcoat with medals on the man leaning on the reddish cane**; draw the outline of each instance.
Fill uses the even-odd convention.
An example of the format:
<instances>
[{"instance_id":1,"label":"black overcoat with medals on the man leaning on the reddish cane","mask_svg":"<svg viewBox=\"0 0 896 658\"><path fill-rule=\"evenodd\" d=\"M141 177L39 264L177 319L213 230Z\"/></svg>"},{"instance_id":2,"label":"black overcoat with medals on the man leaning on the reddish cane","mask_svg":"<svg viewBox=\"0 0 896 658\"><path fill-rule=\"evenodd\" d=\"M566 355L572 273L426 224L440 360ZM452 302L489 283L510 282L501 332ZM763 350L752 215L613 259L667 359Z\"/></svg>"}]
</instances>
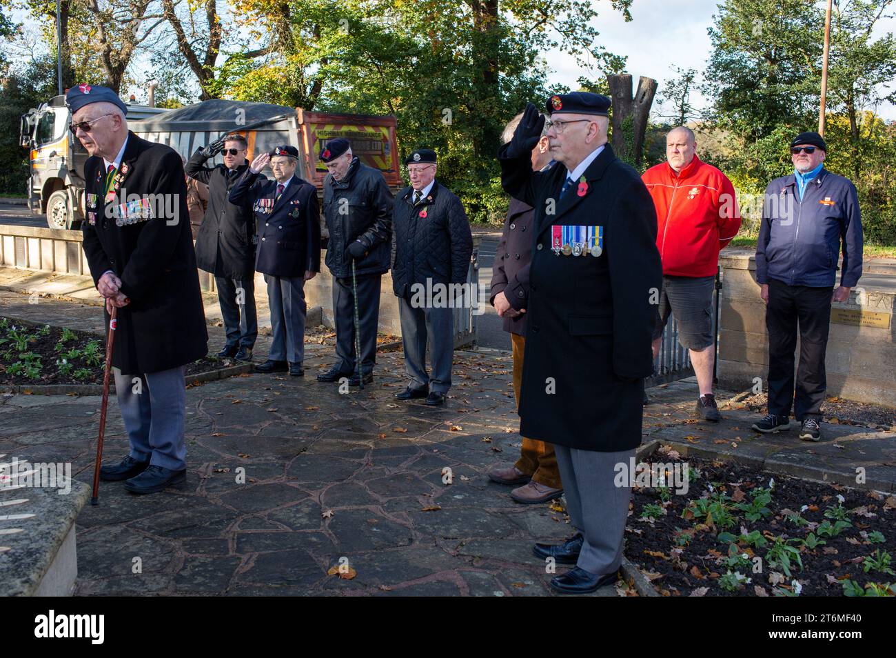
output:
<instances>
[{"instance_id":1,"label":"black overcoat with medals on the man leaning on the reddish cane","mask_svg":"<svg viewBox=\"0 0 896 658\"><path fill-rule=\"evenodd\" d=\"M174 149L129 133L108 195L104 167L97 156L84 165L82 232L94 283L111 270L131 299L118 309L112 364L132 375L201 359L208 333L183 161Z\"/></svg>"}]
</instances>

